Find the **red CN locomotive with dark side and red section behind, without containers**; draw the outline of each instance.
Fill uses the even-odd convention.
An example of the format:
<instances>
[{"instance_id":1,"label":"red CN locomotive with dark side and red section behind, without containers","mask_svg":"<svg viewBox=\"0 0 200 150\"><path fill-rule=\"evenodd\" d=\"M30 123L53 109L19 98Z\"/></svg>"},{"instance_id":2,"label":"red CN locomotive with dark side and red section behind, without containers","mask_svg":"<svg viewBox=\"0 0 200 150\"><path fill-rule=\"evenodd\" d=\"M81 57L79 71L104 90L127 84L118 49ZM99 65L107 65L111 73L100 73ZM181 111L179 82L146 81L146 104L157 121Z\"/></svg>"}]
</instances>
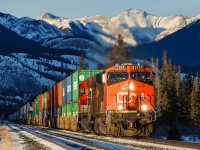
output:
<instances>
[{"instance_id":1,"label":"red CN locomotive with dark side and red section behind, without containers","mask_svg":"<svg viewBox=\"0 0 200 150\"><path fill-rule=\"evenodd\" d=\"M79 127L115 136L149 135L155 120L152 70L122 64L79 86Z\"/></svg>"}]
</instances>

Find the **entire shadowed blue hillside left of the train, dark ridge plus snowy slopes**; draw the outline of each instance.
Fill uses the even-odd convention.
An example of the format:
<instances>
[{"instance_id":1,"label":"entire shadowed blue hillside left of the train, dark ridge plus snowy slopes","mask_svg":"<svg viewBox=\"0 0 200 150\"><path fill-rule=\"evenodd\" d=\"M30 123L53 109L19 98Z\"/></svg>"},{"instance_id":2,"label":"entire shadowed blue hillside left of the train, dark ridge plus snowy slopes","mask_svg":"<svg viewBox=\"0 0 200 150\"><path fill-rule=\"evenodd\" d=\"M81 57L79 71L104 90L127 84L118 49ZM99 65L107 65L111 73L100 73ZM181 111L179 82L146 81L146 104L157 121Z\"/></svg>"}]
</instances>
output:
<instances>
[{"instance_id":1,"label":"entire shadowed blue hillside left of the train, dark ridge plus snowy slopes","mask_svg":"<svg viewBox=\"0 0 200 150\"><path fill-rule=\"evenodd\" d=\"M9 108L14 110L41 93L42 87L53 87L79 69L81 53L90 69L105 59L105 51L97 51L98 43L89 38L58 37L46 44L50 45L40 46L0 24L0 107L13 105Z\"/></svg>"}]
</instances>

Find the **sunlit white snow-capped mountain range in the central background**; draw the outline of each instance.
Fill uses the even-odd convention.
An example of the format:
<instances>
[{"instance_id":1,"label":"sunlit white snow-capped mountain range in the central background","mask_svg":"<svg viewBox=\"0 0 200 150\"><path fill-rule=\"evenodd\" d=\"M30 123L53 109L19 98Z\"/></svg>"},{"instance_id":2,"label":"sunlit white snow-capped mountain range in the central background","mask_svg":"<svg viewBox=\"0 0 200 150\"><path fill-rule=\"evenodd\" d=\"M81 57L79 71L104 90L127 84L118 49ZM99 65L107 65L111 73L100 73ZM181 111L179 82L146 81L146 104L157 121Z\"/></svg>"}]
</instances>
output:
<instances>
[{"instance_id":1,"label":"sunlit white snow-capped mountain range in the central background","mask_svg":"<svg viewBox=\"0 0 200 150\"><path fill-rule=\"evenodd\" d=\"M95 37L102 45L115 43L118 34L132 46L158 41L197 20L183 15L159 17L138 9L129 9L113 18L103 16L83 17L80 19L51 17L43 14L44 20L61 29L67 35L84 33ZM79 33L80 32L80 33Z\"/></svg>"}]
</instances>

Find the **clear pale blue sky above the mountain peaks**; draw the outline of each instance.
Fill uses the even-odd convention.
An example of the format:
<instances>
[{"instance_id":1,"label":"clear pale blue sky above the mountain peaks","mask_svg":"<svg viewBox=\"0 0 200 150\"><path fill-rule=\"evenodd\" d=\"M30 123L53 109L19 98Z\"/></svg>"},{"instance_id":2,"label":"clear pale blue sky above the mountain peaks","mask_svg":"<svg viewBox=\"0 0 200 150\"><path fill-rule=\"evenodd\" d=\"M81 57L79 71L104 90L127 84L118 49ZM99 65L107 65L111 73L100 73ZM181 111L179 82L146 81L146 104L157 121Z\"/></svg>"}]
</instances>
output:
<instances>
[{"instance_id":1,"label":"clear pale blue sky above the mountain peaks","mask_svg":"<svg viewBox=\"0 0 200 150\"><path fill-rule=\"evenodd\" d=\"M60 17L114 17L127 9L141 9L158 16L200 14L200 0L0 0L0 12L37 18L44 12Z\"/></svg>"}]
</instances>

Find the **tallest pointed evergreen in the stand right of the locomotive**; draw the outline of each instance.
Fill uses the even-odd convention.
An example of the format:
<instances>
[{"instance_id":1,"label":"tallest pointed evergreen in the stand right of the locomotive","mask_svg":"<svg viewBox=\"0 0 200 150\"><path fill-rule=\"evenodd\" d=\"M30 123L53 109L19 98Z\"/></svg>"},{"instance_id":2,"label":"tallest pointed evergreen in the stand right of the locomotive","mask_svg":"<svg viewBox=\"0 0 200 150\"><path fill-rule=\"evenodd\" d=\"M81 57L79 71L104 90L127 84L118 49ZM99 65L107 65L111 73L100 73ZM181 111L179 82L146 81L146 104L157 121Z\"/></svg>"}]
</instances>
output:
<instances>
[{"instance_id":1,"label":"tallest pointed evergreen in the stand right of the locomotive","mask_svg":"<svg viewBox=\"0 0 200 150\"><path fill-rule=\"evenodd\" d=\"M172 65L171 60L167 61L167 51L163 53L163 66L161 78L161 119L173 122L176 120L176 67Z\"/></svg>"}]
</instances>

